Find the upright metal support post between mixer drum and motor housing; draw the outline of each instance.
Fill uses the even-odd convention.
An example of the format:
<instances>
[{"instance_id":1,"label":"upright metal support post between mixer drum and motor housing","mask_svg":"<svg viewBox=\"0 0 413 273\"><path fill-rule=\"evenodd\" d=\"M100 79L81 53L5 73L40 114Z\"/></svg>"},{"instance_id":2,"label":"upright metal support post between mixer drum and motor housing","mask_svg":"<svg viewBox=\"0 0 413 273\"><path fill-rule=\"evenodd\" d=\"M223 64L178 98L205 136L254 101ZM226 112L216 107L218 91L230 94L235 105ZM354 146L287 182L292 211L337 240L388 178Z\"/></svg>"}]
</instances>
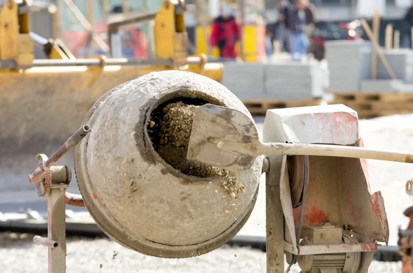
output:
<instances>
[{"instance_id":1,"label":"upright metal support post between mixer drum and motor housing","mask_svg":"<svg viewBox=\"0 0 413 273\"><path fill-rule=\"evenodd\" d=\"M282 156L268 157L266 173L266 263L267 273L284 273L284 214L279 197Z\"/></svg>"}]
</instances>

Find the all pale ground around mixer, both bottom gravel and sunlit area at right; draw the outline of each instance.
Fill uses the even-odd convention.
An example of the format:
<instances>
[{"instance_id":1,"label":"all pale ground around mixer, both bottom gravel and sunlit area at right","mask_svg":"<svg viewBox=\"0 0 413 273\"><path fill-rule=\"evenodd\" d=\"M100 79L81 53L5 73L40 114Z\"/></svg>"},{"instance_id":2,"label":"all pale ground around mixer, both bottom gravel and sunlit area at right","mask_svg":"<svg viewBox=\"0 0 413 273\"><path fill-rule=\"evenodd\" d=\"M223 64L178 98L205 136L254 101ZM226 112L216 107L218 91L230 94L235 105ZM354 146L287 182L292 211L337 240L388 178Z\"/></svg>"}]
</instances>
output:
<instances>
[{"instance_id":1,"label":"all pale ground around mixer, both bottom gravel and sunlit area at right","mask_svg":"<svg viewBox=\"0 0 413 273\"><path fill-rule=\"evenodd\" d=\"M264 118L256 118L262 131ZM413 115L387 116L372 120L361 120L360 130L365 146L374 149L389 149L413 152ZM408 223L403 215L413 201L405 194L405 182L413 176L413 165L397 162L368 161L372 191L381 190L385 199L390 226L390 245L396 245L399 226ZM70 188L75 188L74 182ZM264 177L255 209L241 235L265 235ZM9 196L10 193L1 193ZM6 208L18 209L24 199L35 199L34 190L22 202L8 204L0 198L0 212ZM16 200L16 198L13 198ZM9 198L10 200L10 198ZM46 210L45 199L34 202L36 209ZM44 204L44 206L41 206ZM27 205L24 205L25 207ZM32 235L19 238L12 234L0 235L1 272L46 272L47 248L31 243ZM16 238L17 237L17 238ZM115 255L116 254L116 255ZM100 264L102 267L100 268ZM108 239L70 238L67 245L67 272L265 272L265 253L251 248L221 248L193 259L157 259L127 250ZM299 272L293 267L290 272ZM385 263L373 261L370 272L401 272L401 262Z\"/></svg>"}]
</instances>

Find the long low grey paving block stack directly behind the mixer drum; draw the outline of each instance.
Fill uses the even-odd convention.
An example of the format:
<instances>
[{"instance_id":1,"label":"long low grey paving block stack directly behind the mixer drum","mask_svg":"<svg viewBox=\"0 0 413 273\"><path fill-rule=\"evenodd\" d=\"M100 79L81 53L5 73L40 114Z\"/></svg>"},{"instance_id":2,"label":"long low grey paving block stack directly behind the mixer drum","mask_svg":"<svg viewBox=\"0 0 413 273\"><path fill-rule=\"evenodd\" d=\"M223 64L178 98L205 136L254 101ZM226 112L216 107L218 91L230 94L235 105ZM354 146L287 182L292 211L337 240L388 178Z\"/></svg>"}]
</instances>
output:
<instances>
[{"instance_id":1,"label":"long low grey paving block stack directly behind the mixer drum","mask_svg":"<svg viewBox=\"0 0 413 273\"><path fill-rule=\"evenodd\" d=\"M223 82L240 100L313 100L329 83L326 62L225 63Z\"/></svg>"}]
</instances>

